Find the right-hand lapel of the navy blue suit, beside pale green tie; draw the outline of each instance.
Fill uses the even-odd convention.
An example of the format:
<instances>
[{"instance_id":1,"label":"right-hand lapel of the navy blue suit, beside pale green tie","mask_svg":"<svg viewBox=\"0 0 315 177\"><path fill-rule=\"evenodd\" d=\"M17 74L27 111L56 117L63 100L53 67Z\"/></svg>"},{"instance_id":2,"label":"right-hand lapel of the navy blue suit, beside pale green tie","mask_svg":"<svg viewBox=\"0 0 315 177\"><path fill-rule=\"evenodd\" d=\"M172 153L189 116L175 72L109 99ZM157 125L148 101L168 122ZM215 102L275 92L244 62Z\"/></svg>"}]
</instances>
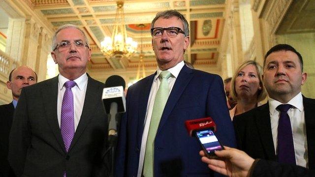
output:
<instances>
[{"instance_id":1,"label":"right-hand lapel of the navy blue suit, beside pale green tie","mask_svg":"<svg viewBox=\"0 0 315 177\"><path fill-rule=\"evenodd\" d=\"M158 127L159 127L158 132L160 131L161 127L166 122L171 111L175 107L178 99L181 97L183 91L186 89L192 76L193 76L192 70L190 68L188 68L186 65L184 65L184 67L180 71L180 73L179 73L179 75L175 81L174 87L173 87L173 89L172 89L172 91L171 91L171 93L167 99L160 123L158 125Z\"/></svg>"}]
</instances>

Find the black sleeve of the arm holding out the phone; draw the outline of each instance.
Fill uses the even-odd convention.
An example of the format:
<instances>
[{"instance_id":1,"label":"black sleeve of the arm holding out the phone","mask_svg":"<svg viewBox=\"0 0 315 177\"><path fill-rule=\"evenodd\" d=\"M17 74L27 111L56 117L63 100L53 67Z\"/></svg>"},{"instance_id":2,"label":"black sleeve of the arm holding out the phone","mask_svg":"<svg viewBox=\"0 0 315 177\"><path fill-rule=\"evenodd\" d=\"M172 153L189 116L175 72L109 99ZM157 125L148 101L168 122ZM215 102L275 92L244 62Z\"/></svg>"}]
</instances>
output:
<instances>
[{"instance_id":1,"label":"black sleeve of the arm holding out the phone","mask_svg":"<svg viewBox=\"0 0 315 177\"><path fill-rule=\"evenodd\" d=\"M260 159L252 169L251 177L315 177L315 171Z\"/></svg>"}]
</instances>

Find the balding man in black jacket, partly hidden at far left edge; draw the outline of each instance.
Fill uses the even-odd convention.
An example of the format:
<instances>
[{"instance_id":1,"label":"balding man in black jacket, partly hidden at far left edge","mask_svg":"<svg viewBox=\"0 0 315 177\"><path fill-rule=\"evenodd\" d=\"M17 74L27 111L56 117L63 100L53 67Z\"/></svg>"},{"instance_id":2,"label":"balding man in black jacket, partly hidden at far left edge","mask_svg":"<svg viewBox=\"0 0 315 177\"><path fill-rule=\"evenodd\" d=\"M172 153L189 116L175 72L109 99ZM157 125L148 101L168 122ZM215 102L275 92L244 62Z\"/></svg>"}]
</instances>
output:
<instances>
[{"instance_id":1,"label":"balding man in black jacket, partly hidden at far left edge","mask_svg":"<svg viewBox=\"0 0 315 177\"><path fill-rule=\"evenodd\" d=\"M13 100L9 104L0 106L0 177L14 177L7 160L13 113L22 88L33 85L36 82L37 75L28 66L17 67L9 74L9 81L6 82L6 87L12 91Z\"/></svg>"}]
</instances>

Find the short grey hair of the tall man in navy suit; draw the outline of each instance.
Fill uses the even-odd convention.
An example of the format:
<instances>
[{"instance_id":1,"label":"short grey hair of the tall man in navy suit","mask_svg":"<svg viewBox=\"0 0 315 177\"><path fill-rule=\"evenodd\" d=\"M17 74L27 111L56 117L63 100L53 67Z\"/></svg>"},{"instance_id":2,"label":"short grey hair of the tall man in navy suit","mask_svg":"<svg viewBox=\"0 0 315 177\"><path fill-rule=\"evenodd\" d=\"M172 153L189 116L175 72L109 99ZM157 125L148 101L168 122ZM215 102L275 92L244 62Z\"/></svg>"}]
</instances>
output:
<instances>
[{"instance_id":1,"label":"short grey hair of the tall man in navy suit","mask_svg":"<svg viewBox=\"0 0 315 177\"><path fill-rule=\"evenodd\" d=\"M171 17L178 17L183 22L185 36L186 37L189 36L189 24L188 24L186 18L184 17L184 15L181 14L180 12L178 12L177 10L165 10L162 12L158 12L156 17L153 19L153 21L151 23L151 29L153 29L154 23L156 23L156 21L160 17L162 17L163 19L169 19Z\"/></svg>"}]
</instances>

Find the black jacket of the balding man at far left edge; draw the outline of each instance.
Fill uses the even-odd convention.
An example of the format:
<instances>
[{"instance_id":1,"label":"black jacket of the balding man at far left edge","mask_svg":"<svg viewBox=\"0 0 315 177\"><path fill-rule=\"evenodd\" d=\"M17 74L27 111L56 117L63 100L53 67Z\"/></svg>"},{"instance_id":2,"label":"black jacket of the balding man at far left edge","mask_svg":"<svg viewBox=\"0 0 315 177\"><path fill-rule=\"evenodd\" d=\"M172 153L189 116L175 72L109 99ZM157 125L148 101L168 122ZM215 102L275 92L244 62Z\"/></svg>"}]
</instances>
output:
<instances>
[{"instance_id":1,"label":"black jacket of the balding man at far left edge","mask_svg":"<svg viewBox=\"0 0 315 177\"><path fill-rule=\"evenodd\" d=\"M8 162L9 133L12 125L14 106L11 103L0 106L0 177L14 177Z\"/></svg>"}]
</instances>

